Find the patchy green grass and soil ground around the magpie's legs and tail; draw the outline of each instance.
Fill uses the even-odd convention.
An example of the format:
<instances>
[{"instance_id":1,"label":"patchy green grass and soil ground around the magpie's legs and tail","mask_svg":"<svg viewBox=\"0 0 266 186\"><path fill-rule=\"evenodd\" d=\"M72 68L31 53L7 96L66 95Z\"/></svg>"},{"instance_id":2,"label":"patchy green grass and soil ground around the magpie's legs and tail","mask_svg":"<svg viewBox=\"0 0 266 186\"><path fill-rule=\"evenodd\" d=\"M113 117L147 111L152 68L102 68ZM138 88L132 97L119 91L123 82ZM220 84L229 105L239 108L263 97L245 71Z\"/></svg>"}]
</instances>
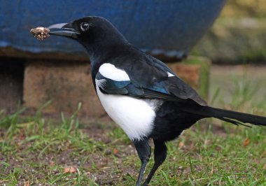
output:
<instances>
[{"instance_id":1,"label":"patchy green grass and soil ground around the magpie's legs and tail","mask_svg":"<svg viewBox=\"0 0 266 186\"><path fill-rule=\"evenodd\" d=\"M235 82L232 100L221 101L223 106L266 115L266 102L251 103L248 82ZM212 102L221 100L218 90L214 96ZM49 120L41 110L34 117L20 116L22 112L0 113L0 185L136 182L139 159L113 123L85 124L78 120L78 110L71 117L62 114L61 120ZM167 143L167 159L151 185L266 185L265 136L263 127L235 127L218 120L197 123ZM148 170L152 164L153 158Z\"/></svg>"}]
</instances>

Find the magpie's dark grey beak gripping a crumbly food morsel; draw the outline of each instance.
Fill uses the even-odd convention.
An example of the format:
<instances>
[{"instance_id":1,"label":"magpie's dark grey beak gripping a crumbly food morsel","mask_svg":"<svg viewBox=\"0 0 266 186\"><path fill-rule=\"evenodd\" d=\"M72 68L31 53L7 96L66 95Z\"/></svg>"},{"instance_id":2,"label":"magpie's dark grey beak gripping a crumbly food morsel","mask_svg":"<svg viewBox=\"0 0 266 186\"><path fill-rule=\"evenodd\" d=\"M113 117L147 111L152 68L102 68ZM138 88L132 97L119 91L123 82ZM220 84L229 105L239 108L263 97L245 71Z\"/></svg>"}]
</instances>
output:
<instances>
[{"instance_id":1,"label":"magpie's dark grey beak gripping a crumbly food morsel","mask_svg":"<svg viewBox=\"0 0 266 186\"><path fill-rule=\"evenodd\" d=\"M69 38L77 38L80 32L73 29L71 23L52 24L48 27L49 34L55 36L64 36Z\"/></svg>"}]
</instances>

